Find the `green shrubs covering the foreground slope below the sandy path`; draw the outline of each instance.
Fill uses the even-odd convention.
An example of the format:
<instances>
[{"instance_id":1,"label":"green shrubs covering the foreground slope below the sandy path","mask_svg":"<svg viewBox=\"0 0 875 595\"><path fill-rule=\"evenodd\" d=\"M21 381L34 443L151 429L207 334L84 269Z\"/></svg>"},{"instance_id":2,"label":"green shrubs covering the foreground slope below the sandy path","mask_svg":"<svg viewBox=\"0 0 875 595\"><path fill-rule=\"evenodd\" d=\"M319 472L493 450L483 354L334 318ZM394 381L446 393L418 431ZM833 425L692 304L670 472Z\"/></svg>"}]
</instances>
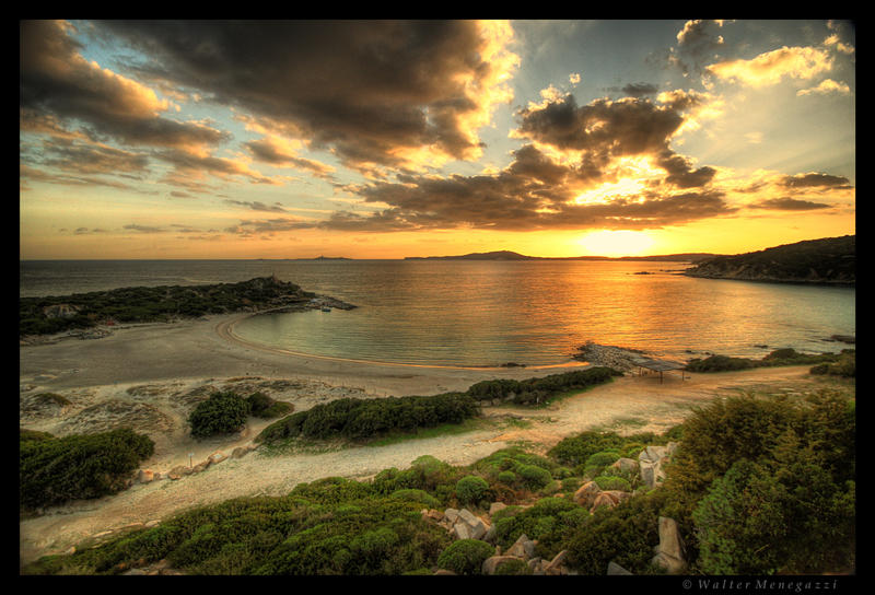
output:
<instances>
[{"instance_id":1,"label":"green shrubs covering the foreground slope below the sandy path","mask_svg":"<svg viewBox=\"0 0 875 595\"><path fill-rule=\"evenodd\" d=\"M746 393L663 434L587 431L545 455L511 447L459 467L424 456L366 480L329 477L282 497L200 506L22 572L118 574L161 561L189 574L480 574L495 546L509 551L527 536L534 556L564 552L580 574L604 574L611 562L660 574L661 517L676 521L692 574L853 572L854 402L835 389ZM621 470L642 447L669 443L662 483ZM575 492L602 479L629 498L581 505ZM489 541L454 539L422 512L463 506L489 517ZM512 559L495 569L530 572Z\"/></svg>"}]
</instances>

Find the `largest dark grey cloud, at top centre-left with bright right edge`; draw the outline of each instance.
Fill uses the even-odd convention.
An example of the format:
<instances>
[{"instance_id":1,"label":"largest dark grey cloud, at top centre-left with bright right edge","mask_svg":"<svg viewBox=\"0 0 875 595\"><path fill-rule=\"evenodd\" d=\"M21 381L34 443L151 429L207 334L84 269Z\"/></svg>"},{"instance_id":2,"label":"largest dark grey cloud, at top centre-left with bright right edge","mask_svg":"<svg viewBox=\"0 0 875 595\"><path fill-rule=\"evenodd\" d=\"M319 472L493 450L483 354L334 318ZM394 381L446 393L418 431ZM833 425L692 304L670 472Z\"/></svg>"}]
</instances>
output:
<instances>
[{"instance_id":1,"label":"largest dark grey cloud, at top centre-left with bright right edge","mask_svg":"<svg viewBox=\"0 0 875 595\"><path fill-rule=\"evenodd\" d=\"M155 77L196 89L347 162L397 164L398 147L463 158L477 107L462 78L491 62L466 21L100 22L152 58ZM252 148L250 148L252 149Z\"/></svg>"}]
</instances>

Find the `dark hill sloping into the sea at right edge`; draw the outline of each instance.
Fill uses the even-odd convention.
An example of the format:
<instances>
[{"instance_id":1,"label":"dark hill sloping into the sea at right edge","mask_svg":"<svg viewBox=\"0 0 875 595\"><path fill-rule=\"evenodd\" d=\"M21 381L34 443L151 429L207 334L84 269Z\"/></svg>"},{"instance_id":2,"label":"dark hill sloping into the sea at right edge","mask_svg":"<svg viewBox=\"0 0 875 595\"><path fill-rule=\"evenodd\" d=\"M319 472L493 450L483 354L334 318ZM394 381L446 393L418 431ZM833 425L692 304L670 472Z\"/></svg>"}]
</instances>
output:
<instances>
[{"instance_id":1,"label":"dark hill sloping into the sea at right edge","mask_svg":"<svg viewBox=\"0 0 875 595\"><path fill-rule=\"evenodd\" d=\"M684 273L707 279L854 284L855 235L808 240L735 256L716 256Z\"/></svg>"}]
</instances>

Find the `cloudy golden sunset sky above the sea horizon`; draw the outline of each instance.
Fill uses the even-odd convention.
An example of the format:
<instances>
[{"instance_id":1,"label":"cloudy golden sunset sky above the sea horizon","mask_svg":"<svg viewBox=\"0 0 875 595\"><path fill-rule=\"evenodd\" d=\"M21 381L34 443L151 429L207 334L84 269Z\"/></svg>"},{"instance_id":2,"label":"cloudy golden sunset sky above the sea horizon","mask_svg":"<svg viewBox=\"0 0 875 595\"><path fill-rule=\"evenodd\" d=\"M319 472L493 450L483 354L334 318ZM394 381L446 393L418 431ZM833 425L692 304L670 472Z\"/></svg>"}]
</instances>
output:
<instances>
[{"instance_id":1,"label":"cloudy golden sunset sky above the sea horizon","mask_svg":"<svg viewBox=\"0 0 875 595\"><path fill-rule=\"evenodd\" d=\"M847 21L22 21L20 258L855 233Z\"/></svg>"}]
</instances>

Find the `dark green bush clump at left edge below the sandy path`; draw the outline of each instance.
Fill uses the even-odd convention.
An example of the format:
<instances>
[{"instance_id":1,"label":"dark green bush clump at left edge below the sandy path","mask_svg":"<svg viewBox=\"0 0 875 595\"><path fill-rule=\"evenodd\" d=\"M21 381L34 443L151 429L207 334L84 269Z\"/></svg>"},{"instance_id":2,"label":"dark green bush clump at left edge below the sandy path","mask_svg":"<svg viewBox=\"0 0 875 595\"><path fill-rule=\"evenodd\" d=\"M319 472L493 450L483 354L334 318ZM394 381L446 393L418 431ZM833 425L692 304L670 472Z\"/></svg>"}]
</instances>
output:
<instances>
[{"instance_id":1,"label":"dark green bush clump at left edge below the sandy path","mask_svg":"<svg viewBox=\"0 0 875 595\"><path fill-rule=\"evenodd\" d=\"M68 500L100 498L128 487L154 443L128 429L56 438L19 432L19 502L22 511Z\"/></svg>"}]
</instances>

